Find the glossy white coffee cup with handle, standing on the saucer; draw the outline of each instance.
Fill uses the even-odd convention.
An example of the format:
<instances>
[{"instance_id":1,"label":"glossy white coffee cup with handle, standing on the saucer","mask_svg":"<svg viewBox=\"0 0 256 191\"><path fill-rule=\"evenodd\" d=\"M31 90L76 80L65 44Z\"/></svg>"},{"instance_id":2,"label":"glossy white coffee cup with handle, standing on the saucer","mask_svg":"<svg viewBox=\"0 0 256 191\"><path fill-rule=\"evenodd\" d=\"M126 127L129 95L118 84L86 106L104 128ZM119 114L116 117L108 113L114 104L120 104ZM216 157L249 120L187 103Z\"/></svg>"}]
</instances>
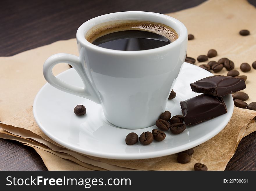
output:
<instances>
[{"instance_id":1,"label":"glossy white coffee cup with handle, standing on the saucer","mask_svg":"<svg viewBox=\"0 0 256 191\"><path fill-rule=\"evenodd\" d=\"M93 27L125 21L164 24L173 28L178 38L163 47L141 51L106 49L85 38ZM186 57L187 41L184 24L167 15L140 11L110 13L90 19L78 28L79 57L66 53L50 56L43 73L55 88L101 104L110 123L129 129L145 128L155 124L166 108L173 82ZM84 87L56 78L52 68L58 63L72 65Z\"/></svg>"}]
</instances>

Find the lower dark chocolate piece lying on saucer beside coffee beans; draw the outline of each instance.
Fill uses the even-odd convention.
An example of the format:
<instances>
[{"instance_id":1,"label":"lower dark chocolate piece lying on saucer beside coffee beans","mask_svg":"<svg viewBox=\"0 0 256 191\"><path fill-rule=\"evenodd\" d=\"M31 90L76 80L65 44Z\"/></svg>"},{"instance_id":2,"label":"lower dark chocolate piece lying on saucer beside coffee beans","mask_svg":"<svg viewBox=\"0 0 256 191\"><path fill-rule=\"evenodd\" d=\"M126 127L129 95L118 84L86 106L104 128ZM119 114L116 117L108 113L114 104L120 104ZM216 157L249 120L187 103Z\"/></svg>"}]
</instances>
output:
<instances>
[{"instance_id":1,"label":"lower dark chocolate piece lying on saucer beside coffee beans","mask_svg":"<svg viewBox=\"0 0 256 191\"><path fill-rule=\"evenodd\" d=\"M227 113L222 97L207 94L180 101L180 106L186 125L195 125Z\"/></svg>"}]
</instances>

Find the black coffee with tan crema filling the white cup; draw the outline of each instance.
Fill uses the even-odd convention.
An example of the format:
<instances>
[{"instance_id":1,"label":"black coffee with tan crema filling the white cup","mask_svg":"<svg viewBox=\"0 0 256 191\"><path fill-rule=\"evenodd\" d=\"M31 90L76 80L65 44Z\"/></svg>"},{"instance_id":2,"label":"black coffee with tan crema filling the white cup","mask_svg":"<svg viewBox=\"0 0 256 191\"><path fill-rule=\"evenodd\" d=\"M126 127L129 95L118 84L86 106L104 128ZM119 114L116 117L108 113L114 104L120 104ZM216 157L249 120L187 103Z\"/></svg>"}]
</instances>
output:
<instances>
[{"instance_id":1,"label":"black coffee with tan crema filling the white cup","mask_svg":"<svg viewBox=\"0 0 256 191\"><path fill-rule=\"evenodd\" d=\"M93 31L87 40L99 47L137 51L170 44L177 39L172 28L147 22L119 23Z\"/></svg>"}]
</instances>

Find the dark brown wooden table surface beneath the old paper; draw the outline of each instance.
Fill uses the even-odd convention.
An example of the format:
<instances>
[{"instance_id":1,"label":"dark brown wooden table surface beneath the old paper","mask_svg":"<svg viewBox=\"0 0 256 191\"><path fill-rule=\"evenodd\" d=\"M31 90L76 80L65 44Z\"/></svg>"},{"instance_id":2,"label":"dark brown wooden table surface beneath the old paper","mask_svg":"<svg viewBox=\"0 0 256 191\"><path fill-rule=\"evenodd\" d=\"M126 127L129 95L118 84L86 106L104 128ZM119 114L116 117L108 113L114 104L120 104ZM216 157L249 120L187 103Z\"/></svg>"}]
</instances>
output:
<instances>
[{"instance_id":1,"label":"dark brown wooden table surface beneath the old paper","mask_svg":"<svg viewBox=\"0 0 256 191\"><path fill-rule=\"evenodd\" d=\"M83 22L106 13L131 10L170 13L203 1L1 0L0 56L12 56L58 40L75 38L77 28ZM255 0L249 2L256 6ZM255 151L256 132L241 140L226 170L256 170ZM0 139L0 169L47 170L34 149L3 139Z\"/></svg>"}]
</instances>

